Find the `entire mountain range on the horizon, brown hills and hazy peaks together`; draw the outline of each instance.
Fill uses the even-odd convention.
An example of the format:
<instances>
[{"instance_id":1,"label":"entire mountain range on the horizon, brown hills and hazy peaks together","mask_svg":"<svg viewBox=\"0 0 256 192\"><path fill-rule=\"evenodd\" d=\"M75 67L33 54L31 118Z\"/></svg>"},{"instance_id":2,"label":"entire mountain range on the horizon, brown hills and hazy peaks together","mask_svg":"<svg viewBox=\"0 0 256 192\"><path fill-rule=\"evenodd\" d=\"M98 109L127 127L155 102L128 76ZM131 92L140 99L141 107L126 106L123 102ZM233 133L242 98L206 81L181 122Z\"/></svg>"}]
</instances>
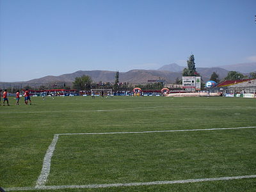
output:
<instances>
[{"instance_id":1,"label":"entire mountain range on the horizon, brown hills and hazy peaks together","mask_svg":"<svg viewBox=\"0 0 256 192\"><path fill-rule=\"evenodd\" d=\"M164 79L166 83L175 83L177 77L182 77L182 70L185 67L177 65L176 63L171 63L169 65L164 65L157 70L129 70L128 72L119 72L120 82L129 83L147 83L148 80ZM239 63L236 65L223 65L219 67L198 67L196 71L202 76L202 79L206 82L211 77L212 72L216 72L219 75L219 79L223 79L227 76L228 71L236 70L246 74L248 72L256 71L256 63ZM71 74L63 74L61 76L45 76L38 79L32 79L23 82L13 82L13 83L28 83L28 84L40 84L40 83L51 83L51 82L72 82L76 77L81 77L83 75L92 77L93 81L99 82L114 82L115 81L115 71L108 70L78 70ZM3 84L4 82L0 82Z\"/></svg>"}]
</instances>

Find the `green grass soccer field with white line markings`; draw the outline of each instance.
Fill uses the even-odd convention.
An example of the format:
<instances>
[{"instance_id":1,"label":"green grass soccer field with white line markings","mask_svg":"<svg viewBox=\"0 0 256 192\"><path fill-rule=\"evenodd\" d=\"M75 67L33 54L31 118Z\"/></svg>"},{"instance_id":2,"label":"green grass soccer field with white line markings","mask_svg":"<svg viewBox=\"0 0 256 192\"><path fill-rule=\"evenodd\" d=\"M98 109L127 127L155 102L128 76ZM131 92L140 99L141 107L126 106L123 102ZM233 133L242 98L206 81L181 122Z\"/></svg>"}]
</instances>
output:
<instances>
[{"instance_id":1,"label":"green grass soccer field with white line markings","mask_svg":"<svg viewBox=\"0 0 256 192\"><path fill-rule=\"evenodd\" d=\"M6 191L256 190L255 99L9 99L0 106Z\"/></svg>"}]
</instances>

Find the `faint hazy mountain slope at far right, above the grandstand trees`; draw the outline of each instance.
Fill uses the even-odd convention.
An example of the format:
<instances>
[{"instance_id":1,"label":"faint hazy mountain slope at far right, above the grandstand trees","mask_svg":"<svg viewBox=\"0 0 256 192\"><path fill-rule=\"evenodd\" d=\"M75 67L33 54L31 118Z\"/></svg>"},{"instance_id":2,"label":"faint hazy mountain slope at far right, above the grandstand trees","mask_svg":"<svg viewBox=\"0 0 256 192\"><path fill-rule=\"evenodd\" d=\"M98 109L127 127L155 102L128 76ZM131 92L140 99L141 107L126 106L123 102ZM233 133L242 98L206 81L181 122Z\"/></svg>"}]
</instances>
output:
<instances>
[{"instance_id":1,"label":"faint hazy mountain slope at far right, above the grandstand trees","mask_svg":"<svg viewBox=\"0 0 256 192\"><path fill-rule=\"evenodd\" d=\"M225 70L234 70L237 72L250 73L256 71L256 63L238 63L234 65L221 65L218 66Z\"/></svg>"}]
</instances>

